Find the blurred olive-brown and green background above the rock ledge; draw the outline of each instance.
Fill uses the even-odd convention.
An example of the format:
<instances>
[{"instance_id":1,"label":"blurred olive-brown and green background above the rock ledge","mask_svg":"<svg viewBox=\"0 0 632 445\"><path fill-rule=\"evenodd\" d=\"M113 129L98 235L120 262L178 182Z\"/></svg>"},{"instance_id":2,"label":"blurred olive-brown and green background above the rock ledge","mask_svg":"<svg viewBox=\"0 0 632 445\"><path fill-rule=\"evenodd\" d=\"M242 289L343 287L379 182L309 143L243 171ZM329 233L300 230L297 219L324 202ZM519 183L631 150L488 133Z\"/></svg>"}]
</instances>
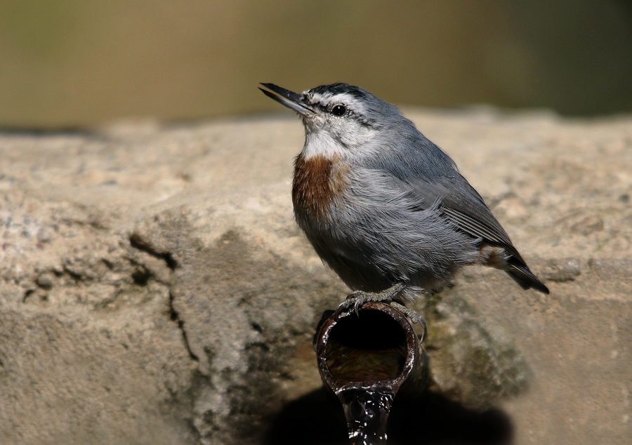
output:
<instances>
[{"instance_id":1,"label":"blurred olive-brown and green background above the rock ledge","mask_svg":"<svg viewBox=\"0 0 632 445\"><path fill-rule=\"evenodd\" d=\"M260 81L631 112L632 2L0 0L4 128L279 109Z\"/></svg>"}]
</instances>

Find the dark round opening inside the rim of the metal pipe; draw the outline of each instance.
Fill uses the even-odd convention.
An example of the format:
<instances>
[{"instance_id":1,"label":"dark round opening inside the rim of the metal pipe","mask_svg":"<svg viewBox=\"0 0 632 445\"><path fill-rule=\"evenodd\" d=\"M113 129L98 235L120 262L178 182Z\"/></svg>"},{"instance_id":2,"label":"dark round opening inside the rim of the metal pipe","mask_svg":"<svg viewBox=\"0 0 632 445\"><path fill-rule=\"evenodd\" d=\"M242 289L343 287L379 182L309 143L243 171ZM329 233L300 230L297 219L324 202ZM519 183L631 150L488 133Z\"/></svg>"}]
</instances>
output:
<instances>
[{"instance_id":1,"label":"dark round opening inside the rim of the metal pipe","mask_svg":"<svg viewBox=\"0 0 632 445\"><path fill-rule=\"evenodd\" d=\"M407 338L402 326L378 310L360 310L331 328L324 357L331 376L347 382L395 380L404 371Z\"/></svg>"}]
</instances>

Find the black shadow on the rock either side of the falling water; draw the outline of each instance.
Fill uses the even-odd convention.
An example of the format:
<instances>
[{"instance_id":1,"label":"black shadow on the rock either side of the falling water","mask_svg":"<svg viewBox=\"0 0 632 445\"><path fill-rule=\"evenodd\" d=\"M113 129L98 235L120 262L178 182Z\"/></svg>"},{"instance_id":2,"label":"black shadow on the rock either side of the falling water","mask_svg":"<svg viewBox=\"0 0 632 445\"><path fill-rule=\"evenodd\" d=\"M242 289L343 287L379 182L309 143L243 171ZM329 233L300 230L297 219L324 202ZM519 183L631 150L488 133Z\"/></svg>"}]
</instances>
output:
<instances>
[{"instance_id":1,"label":"black shadow on the rock either side of the falling water","mask_svg":"<svg viewBox=\"0 0 632 445\"><path fill-rule=\"evenodd\" d=\"M466 409L437 394L395 399L388 420L389 445L510 444L513 427L499 409ZM289 402L272 423L265 445L348 445L342 406L324 387Z\"/></svg>"}]
</instances>

